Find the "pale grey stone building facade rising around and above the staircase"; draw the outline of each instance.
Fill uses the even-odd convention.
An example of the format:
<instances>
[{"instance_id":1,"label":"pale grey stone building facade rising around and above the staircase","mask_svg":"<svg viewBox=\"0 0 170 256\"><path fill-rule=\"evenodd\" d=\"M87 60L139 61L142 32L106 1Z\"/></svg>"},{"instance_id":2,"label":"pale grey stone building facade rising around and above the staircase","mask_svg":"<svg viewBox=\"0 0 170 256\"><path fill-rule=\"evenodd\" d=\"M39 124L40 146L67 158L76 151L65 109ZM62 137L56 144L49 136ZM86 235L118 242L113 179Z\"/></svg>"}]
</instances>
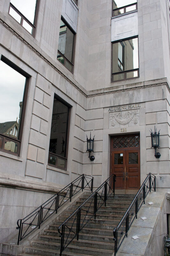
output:
<instances>
[{"instance_id":1,"label":"pale grey stone building facade rising around and above the staircase","mask_svg":"<svg viewBox=\"0 0 170 256\"><path fill-rule=\"evenodd\" d=\"M0 0L0 63L26 79L18 116L0 121L0 242L83 173L95 188L116 172L122 191L136 191L149 172L157 188L170 187L170 1L114 3L38 0L30 23L15 1ZM4 97L10 103L6 95L18 90L11 72L2 72L0 89L9 78L11 87L1 92L1 114ZM18 137L3 133L10 121ZM94 161L86 152L90 132Z\"/></svg>"}]
</instances>

